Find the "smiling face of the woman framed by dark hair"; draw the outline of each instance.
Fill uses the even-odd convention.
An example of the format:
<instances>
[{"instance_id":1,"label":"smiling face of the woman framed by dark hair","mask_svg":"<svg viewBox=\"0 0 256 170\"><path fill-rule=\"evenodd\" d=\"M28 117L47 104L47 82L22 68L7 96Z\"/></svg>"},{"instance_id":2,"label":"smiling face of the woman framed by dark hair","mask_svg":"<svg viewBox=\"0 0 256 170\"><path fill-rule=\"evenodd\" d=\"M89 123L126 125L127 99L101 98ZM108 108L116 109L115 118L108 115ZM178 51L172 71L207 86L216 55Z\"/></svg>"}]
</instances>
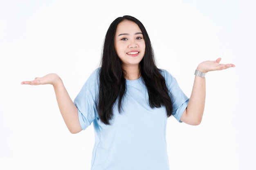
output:
<instances>
[{"instance_id":1,"label":"smiling face of the woman framed by dark hair","mask_svg":"<svg viewBox=\"0 0 256 170\"><path fill-rule=\"evenodd\" d=\"M137 67L145 54L145 41L139 26L130 20L117 25L115 50L124 68Z\"/></svg>"}]
</instances>

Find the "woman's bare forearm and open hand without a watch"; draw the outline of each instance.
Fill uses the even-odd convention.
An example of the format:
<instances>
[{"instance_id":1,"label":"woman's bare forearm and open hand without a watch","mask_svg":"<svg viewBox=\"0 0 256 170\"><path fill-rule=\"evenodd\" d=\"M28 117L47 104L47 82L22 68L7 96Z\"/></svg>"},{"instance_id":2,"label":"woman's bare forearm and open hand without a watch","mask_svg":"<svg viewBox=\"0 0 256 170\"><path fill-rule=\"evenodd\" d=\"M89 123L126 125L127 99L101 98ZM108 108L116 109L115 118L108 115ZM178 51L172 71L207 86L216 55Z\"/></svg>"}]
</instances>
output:
<instances>
[{"instance_id":1,"label":"woman's bare forearm and open hand without a watch","mask_svg":"<svg viewBox=\"0 0 256 170\"><path fill-rule=\"evenodd\" d=\"M32 81L21 82L21 84L52 84L54 87L58 107L68 130L70 130L71 133L78 133L82 130L78 119L78 110L69 94L67 93L61 78L57 74L50 73L43 77L37 77Z\"/></svg>"}]
</instances>

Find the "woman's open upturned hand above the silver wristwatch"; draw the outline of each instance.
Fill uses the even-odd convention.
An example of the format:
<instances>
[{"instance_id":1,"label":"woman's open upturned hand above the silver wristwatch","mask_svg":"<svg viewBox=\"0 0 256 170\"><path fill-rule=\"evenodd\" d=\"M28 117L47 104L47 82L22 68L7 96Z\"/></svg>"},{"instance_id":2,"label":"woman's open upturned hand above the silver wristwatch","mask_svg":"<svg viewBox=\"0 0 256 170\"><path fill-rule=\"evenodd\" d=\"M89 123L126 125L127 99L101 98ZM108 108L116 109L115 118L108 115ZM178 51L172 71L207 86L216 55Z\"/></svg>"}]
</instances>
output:
<instances>
[{"instance_id":1,"label":"woman's open upturned hand above the silver wristwatch","mask_svg":"<svg viewBox=\"0 0 256 170\"><path fill-rule=\"evenodd\" d=\"M221 58L218 58L215 61L204 61L201 62L198 65L197 70L207 73L208 71L216 71L216 70L223 70L223 69L227 69L230 67L235 67L234 64L220 64L220 60Z\"/></svg>"}]
</instances>

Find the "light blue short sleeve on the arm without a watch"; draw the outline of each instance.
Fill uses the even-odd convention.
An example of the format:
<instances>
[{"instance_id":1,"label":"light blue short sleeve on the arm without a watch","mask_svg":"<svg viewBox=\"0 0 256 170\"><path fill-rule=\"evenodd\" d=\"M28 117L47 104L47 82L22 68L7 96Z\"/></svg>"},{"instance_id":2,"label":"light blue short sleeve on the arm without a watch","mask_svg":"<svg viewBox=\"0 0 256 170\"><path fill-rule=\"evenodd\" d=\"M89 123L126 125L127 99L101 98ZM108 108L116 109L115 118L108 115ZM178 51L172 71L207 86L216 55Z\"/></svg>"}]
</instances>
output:
<instances>
[{"instance_id":1,"label":"light blue short sleeve on the arm without a watch","mask_svg":"<svg viewBox=\"0 0 256 170\"><path fill-rule=\"evenodd\" d=\"M80 92L74 99L74 104L78 109L79 123L85 130L97 117L97 98L99 94L98 72L96 69L87 79Z\"/></svg>"}]
</instances>

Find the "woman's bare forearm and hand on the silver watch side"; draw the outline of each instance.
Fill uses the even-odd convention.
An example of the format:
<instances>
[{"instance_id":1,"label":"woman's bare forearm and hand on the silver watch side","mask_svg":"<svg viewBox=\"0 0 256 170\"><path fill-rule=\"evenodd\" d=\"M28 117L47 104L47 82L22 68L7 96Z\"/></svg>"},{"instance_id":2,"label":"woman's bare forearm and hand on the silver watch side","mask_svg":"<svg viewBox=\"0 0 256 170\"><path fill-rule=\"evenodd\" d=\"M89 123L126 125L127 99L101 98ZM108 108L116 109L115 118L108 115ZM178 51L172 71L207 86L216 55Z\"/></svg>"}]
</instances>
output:
<instances>
[{"instance_id":1,"label":"woman's bare forearm and hand on the silver watch side","mask_svg":"<svg viewBox=\"0 0 256 170\"><path fill-rule=\"evenodd\" d=\"M205 61L198 65L197 70L207 73L209 71L223 70L235 67L234 64L220 64L221 58L215 61ZM180 118L186 124L199 125L204 113L205 104L205 78L195 76L191 97L188 106Z\"/></svg>"}]
</instances>

